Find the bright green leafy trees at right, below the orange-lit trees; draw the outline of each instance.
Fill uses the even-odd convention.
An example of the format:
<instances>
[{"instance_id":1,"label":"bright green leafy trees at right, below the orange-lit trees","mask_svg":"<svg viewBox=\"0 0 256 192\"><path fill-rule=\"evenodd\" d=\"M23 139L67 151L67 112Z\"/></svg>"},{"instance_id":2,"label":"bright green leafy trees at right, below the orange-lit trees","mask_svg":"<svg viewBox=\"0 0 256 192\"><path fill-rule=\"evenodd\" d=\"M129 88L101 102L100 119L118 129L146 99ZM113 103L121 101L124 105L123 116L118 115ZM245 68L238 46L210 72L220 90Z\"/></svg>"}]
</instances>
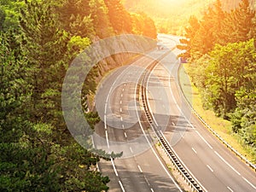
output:
<instances>
[{"instance_id":1,"label":"bright green leafy trees at right, below the orange-lit trees","mask_svg":"<svg viewBox=\"0 0 256 192\"><path fill-rule=\"evenodd\" d=\"M204 107L230 119L233 131L255 153L256 51L254 40L215 45L209 55L189 67L192 81L201 90Z\"/></svg>"}]
</instances>

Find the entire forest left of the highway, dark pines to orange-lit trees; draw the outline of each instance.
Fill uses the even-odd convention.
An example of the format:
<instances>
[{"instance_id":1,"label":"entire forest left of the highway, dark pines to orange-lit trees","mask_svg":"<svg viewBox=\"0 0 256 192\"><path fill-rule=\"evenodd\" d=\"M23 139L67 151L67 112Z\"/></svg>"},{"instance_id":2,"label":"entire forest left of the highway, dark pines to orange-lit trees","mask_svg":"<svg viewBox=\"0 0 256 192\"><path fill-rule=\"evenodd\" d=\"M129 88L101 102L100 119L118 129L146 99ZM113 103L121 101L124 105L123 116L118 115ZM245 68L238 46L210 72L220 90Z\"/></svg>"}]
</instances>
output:
<instances>
[{"instance_id":1,"label":"entire forest left of the highway, dark pines to orange-lit trees","mask_svg":"<svg viewBox=\"0 0 256 192\"><path fill-rule=\"evenodd\" d=\"M108 190L109 178L96 169L102 157L67 130L62 82L88 45L123 33L156 38L154 21L119 0L0 3L0 191ZM84 96L96 90L98 73L90 73ZM84 116L93 129L97 114Z\"/></svg>"}]
</instances>

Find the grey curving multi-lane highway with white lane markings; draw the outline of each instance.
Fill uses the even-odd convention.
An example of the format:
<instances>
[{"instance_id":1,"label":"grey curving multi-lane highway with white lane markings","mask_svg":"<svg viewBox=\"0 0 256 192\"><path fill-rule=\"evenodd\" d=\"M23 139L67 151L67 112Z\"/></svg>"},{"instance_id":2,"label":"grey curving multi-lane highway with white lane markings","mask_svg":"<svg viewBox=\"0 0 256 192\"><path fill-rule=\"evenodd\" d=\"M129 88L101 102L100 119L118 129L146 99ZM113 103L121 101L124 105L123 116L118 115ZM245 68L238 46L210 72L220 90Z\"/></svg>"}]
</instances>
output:
<instances>
[{"instance_id":1,"label":"grey curving multi-lane highway with white lane markings","mask_svg":"<svg viewBox=\"0 0 256 192\"><path fill-rule=\"evenodd\" d=\"M147 89L154 123L203 190L256 191L255 172L207 131L185 102L178 85L179 50L172 49L178 38L159 38L169 49L154 49L148 57L113 70L96 93L102 121L96 125L99 137L94 136L94 144L110 153L123 153L99 164L111 179L109 191L183 191L154 148L157 138L143 113L141 85ZM161 56L146 84L140 84L144 70Z\"/></svg>"}]
</instances>

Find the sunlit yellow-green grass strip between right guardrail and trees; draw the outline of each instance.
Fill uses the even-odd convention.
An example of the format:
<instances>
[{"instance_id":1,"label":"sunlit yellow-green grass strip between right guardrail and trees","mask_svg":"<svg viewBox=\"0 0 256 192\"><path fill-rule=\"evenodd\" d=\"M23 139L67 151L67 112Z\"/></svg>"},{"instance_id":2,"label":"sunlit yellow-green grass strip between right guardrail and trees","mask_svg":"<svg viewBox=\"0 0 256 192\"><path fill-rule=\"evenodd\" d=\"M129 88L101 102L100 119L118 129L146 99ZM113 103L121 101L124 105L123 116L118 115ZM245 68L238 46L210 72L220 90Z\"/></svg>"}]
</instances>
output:
<instances>
[{"instance_id":1,"label":"sunlit yellow-green grass strip between right guardrail and trees","mask_svg":"<svg viewBox=\"0 0 256 192\"><path fill-rule=\"evenodd\" d=\"M189 102L192 103L195 111L201 115L202 119L204 119L220 137L227 143L230 143L233 148L236 148L240 154L250 161L255 161L251 149L241 143L241 139L238 135L232 133L231 122L218 118L212 110L205 110L202 107L200 92L194 84L190 83L189 76L186 73L188 65L189 64L184 64L183 68L180 70L180 84L184 95L189 99Z\"/></svg>"}]
</instances>

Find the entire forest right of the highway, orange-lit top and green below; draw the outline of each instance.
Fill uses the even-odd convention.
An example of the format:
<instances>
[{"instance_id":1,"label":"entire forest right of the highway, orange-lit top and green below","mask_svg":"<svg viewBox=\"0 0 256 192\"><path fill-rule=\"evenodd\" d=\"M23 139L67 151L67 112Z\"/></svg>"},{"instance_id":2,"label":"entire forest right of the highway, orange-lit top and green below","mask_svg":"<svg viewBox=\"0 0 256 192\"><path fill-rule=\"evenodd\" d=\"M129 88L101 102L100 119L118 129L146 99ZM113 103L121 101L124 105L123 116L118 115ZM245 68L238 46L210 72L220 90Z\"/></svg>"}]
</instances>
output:
<instances>
[{"instance_id":1,"label":"entire forest right of the highway, orange-lit top and green below","mask_svg":"<svg viewBox=\"0 0 256 192\"><path fill-rule=\"evenodd\" d=\"M223 9L217 0L199 20L189 19L179 49L203 105L232 122L233 134L256 162L256 14L248 0Z\"/></svg>"}]
</instances>

